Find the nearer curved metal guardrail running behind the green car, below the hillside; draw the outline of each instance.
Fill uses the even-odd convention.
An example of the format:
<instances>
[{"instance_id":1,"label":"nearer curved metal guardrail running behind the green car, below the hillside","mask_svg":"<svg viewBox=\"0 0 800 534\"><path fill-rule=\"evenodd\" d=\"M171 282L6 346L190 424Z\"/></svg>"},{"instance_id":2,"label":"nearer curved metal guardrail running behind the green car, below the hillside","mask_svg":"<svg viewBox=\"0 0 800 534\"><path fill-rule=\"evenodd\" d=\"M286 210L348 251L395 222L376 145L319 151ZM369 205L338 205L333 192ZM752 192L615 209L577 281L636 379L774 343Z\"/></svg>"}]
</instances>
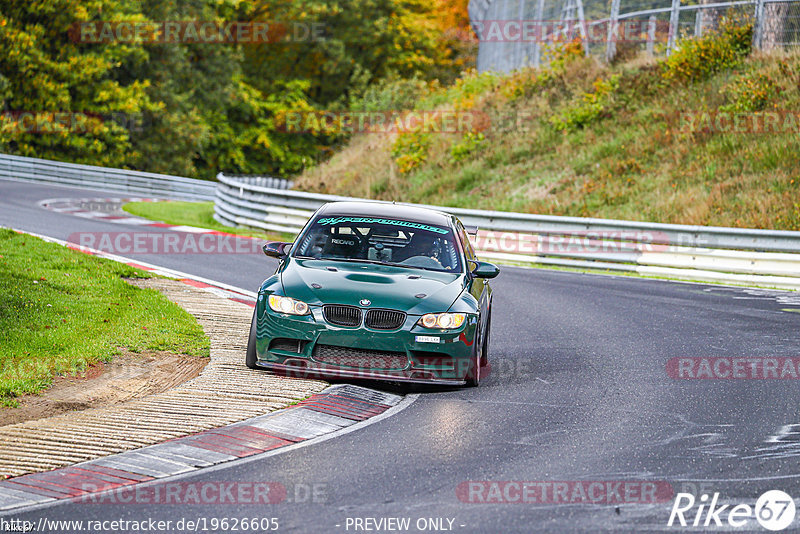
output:
<instances>
[{"instance_id":1,"label":"nearer curved metal guardrail running behind the green car, below the hillside","mask_svg":"<svg viewBox=\"0 0 800 534\"><path fill-rule=\"evenodd\" d=\"M263 187L224 174L217 180L215 219L266 231L297 233L326 202L364 200ZM800 289L800 232L420 206L478 226L478 252L503 263Z\"/></svg>"}]
</instances>

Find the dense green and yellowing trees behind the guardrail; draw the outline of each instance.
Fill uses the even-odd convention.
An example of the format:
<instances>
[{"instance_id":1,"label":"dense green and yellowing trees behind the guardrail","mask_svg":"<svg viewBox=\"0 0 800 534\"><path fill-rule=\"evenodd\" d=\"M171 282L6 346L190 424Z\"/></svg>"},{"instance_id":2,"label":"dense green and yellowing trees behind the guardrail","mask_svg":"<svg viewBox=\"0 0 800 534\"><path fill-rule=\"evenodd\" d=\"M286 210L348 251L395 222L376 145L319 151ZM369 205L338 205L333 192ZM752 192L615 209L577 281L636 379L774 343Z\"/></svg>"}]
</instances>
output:
<instances>
[{"instance_id":1,"label":"dense green and yellowing trees behind the guardrail","mask_svg":"<svg viewBox=\"0 0 800 534\"><path fill-rule=\"evenodd\" d=\"M463 35L448 31L467 20L465 0L458 6L7 0L0 7L0 150L208 179L219 171L294 174L345 136L286 133L281 117L359 106L371 87L388 81L455 79ZM165 21L263 21L287 24L290 32L260 44L70 39L82 22ZM315 30L297 39L295 27ZM53 124L44 133L15 120L20 111L88 115L82 128ZM133 120L108 120L112 115Z\"/></svg>"}]
</instances>

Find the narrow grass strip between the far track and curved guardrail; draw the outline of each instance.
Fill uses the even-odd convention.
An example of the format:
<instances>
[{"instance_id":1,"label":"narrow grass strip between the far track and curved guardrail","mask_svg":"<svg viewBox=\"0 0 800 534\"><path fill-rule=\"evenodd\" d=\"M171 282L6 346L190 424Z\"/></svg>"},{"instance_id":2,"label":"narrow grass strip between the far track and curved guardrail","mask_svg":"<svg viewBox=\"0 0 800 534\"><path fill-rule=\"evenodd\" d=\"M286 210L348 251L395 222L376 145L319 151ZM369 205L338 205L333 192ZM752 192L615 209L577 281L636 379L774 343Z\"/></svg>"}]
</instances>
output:
<instances>
[{"instance_id":1,"label":"narrow grass strip between the far track and curved guardrail","mask_svg":"<svg viewBox=\"0 0 800 534\"><path fill-rule=\"evenodd\" d=\"M219 232L227 232L247 237L263 237L275 241L292 241L294 236L291 234L281 234L278 232L264 232L251 228L234 228L218 223L214 219L213 202L130 202L122 206L122 209L151 221L161 221L167 224L196 226L198 228L208 228Z\"/></svg>"}]
</instances>

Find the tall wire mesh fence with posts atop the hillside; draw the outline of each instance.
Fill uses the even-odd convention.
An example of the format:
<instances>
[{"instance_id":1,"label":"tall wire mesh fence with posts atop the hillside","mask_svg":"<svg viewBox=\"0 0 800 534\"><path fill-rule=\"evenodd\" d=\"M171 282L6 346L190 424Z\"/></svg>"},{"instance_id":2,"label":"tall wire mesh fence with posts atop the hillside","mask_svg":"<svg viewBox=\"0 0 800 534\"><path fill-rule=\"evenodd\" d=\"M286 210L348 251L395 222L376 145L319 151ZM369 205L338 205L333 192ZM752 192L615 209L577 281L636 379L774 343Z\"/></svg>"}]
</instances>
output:
<instances>
[{"instance_id":1,"label":"tall wire mesh fence with posts atop the hillside","mask_svg":"<svg viewBox=\"0 0 800 534\"><path fill-rule=\"evenodd\" d=\"M480 72L539 66L548 47L572 39L606 61L669 54L724 18L751 21L759 50L800 45L800 0L471 0L469 11Z\"/></svg>"}]
</instances>

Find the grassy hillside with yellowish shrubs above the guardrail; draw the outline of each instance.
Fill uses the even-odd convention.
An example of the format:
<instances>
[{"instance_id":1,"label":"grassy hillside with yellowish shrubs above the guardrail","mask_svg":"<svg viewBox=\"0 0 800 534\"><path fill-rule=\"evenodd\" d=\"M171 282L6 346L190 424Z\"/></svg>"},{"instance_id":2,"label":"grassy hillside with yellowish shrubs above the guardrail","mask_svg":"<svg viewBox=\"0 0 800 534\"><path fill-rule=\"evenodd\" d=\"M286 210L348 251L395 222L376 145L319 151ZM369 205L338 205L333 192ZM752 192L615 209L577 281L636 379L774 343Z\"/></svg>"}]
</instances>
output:
<instances>
[{"instance_id":1,"label":"grassy hillside with yellowish shrubs above the guardrail","mask_svg":"<svg viewBox=\"0 0 800 534\"><path fill-rule=\"evenodd\" d=\"M466 74L418 110L485 114L488 129L362 134L297 188L379 199L684 224L800 230L800 55L752 55L751 28L684 41L669 60L603 66L578 44L546 70ZM386 89L383 99L396 102ZM780 115L724 132L686 113ZM697 120L697 115L692 121ZM708 117L708 115L706 115ZM723 124L724 126L725 124ZM794 126L793 126L794 125Z\"/></svg>"}]
</instances>

